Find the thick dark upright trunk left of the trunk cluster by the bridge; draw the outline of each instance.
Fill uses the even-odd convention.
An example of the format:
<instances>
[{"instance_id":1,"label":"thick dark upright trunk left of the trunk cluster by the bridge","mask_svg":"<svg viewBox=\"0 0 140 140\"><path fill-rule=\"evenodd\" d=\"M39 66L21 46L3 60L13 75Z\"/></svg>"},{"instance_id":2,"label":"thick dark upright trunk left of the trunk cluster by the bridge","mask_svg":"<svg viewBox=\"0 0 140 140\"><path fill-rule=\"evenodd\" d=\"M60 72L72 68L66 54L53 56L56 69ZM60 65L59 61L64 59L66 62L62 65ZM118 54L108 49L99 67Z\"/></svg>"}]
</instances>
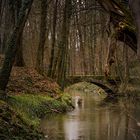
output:
<instances>
[{"instance_id":1,"label":"thick dark upright trunk left of the trunk cluster by the bridge","mask_svg":"<svg viewBox=\"0 0 140 140\"><path fill-rule=\"evenodd\" d=\"M43 74L44 71L44 46L46 41L46 24L47 24L47 0L41 0L41 24L40 24L40 39L37 50L36 70Z\"/></svg>"}]
</instances>

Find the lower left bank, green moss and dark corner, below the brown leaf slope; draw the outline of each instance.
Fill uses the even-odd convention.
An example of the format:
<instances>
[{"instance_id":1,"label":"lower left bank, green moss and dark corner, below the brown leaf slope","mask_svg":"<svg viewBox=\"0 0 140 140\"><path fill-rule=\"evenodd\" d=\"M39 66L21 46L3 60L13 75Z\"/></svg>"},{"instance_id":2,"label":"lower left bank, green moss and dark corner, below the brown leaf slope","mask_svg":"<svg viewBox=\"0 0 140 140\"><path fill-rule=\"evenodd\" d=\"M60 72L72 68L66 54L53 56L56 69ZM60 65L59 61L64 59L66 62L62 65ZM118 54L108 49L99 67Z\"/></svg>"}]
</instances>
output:
<instances>
[{"instance_id":1,"label":"lower left bank, green moss and dark corner, below the brown leaf slope","mask_svg":"<svg viewBox=\"0 0 140 140\"><path fill-rule=\"evenodd\" d=\"M10 96L8 103L0 100L0 139L43 139L38 131L40 119L50 113L62 113L71 107L71 97L62 94L57 99L46 95Z\"/></svg>"}]
</instances>

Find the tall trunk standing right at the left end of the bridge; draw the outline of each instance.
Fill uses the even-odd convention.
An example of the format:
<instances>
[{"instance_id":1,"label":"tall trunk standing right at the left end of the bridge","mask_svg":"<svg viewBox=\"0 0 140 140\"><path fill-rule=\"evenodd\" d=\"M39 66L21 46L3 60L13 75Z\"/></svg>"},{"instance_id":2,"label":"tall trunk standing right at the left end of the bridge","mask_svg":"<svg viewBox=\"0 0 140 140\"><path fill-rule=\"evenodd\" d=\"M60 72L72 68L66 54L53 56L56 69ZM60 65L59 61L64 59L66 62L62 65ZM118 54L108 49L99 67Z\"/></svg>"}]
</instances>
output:
<instances>
[{"instance_id":1,"label":"tall trunk standing right at the left end of the bridge","mask_svg":"<svg viewBox=\"0 0 140 140\"><path fill-rule=\"evenodd\" d=\"M68 35L71 17L71 0L65 0L65 7L63 10L63 26L62 26L62 37L60 42L60 59L58 64L58 83L61 88L64 89L66 70L67 70L67 54L68 54Z\"/></svg>"}]
</instances>

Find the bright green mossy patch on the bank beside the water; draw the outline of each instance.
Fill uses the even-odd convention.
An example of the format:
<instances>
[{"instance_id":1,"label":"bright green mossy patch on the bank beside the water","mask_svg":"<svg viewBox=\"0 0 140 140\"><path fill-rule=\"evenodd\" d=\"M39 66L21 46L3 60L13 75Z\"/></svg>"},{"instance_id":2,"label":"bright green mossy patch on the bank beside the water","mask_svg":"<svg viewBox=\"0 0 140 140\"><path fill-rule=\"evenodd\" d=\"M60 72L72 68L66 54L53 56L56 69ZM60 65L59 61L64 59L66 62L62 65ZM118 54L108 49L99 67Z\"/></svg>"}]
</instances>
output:
<instances>
[{"instance_id":1,"label":"bright green mossy patch on the bank beside the water","mask_svg":"<svg viewBox=\"0 0 140 140\"><path fill-rule=\"evenodd\" d=\"M58 99L46 95L10 96L9 104L22 116L25 122L38 126L40 118L50 113L66 112L71 106L71 97L62 94Z\"/></svg>"}]
</instances>

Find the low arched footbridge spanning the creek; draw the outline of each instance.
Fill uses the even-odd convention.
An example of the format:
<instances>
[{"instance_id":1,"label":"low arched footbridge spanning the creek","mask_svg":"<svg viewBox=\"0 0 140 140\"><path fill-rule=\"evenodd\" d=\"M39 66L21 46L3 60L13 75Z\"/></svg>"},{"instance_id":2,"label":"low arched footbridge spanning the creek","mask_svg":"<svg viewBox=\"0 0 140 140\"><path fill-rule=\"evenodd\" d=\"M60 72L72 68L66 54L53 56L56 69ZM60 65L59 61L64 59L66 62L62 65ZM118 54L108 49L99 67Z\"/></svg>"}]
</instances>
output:
<instances>
[{"instance_id":1,"label":"low arched footbridge spanning the creek","mask_svg":"<svg viewBox=\"0 0 140 140\"><path fill-rule=\"evenodd\" d=\"M102 88L108 94L115 94L118 91L120 84L120 79L115 78L105 78L105 76L93 76L93 75L76 75L76 76L67 76L65 81L65 87L71 86L79 82L88 82L95 84Z\"/></svg>"}]
</instances>

